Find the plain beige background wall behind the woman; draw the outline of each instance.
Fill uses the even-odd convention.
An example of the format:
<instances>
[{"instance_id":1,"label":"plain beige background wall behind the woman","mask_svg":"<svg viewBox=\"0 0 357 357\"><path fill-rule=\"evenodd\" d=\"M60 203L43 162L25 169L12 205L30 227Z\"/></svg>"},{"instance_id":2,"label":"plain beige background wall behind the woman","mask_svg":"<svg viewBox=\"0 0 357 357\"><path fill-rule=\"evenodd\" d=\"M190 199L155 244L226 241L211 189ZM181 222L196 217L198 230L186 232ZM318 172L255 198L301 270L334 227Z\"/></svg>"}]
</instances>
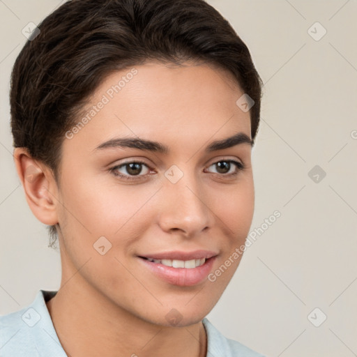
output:
<instances>
[{"instance_id":1,"label":"plain beige background wall behind the woman","mask_svg":"<svg viewBox=\"0 0 357 357\"><path fill-rule=\"evenodd\" d=\"M357 356L357 1L208 2L248 45L265 84L251 231L281 213L208 319L267 357ZM47 248L15 173L8 105L22 28L57 6L0 0L0 314L60 282L59 253ZM323 179L310 178L316 165ZM319 327L307 318L316 307L314 324L327 316Z\"/></svg>"}]
</instances>

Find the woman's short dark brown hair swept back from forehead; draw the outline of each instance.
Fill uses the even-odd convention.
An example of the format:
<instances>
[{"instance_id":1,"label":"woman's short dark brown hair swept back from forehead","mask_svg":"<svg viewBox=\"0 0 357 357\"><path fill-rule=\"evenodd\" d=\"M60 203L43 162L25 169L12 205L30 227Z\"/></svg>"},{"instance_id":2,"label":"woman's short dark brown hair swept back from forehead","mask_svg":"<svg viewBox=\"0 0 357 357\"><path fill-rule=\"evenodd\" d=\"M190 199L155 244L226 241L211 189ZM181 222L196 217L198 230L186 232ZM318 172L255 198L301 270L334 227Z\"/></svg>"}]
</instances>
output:
<instances>
[{"instance_id":1,"label":"woman's short dark brown hair swept back from forehead","mask_svg":"<svg viewBox=\"0 0 357 357\"><path fill-rule=\"evenodd\" d=\"M11 75L13 144L45 163L58 183L61 144L100 82L148 60L205 61L228 70L255 105L259 128L262 82L248 47L204 0L73 0L38 25ZM238 99L238 98L237 98ZM49 226L56 241L56 226Z\"/></svg>"}]
</instances>

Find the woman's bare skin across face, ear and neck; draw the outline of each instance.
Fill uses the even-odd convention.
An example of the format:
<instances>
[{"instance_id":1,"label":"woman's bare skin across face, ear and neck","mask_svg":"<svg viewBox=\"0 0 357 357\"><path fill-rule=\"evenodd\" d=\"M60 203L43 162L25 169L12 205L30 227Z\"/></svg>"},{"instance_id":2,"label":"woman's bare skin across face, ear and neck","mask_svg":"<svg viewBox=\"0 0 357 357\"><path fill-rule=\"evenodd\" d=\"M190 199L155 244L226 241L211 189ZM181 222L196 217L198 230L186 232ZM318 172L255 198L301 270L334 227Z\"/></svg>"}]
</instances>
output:
<instances>
[{"instance_id":1,"label":"woman's bare skin across face, ear and neck","mask_svg":"<svg viewBox=\"0 0 357 357\"><path fill-rule=\"evenodd\" d=\"M61 287L47 308L68 356L204 357L202 319L241 257L215 282L179 287L154 275L137 255L211 250L218 253L214 272L244 244L255 201L252 147L204 149L237 132L251 137L250 113L236 105L243 91L222 69L189 62L135 68L137 75L120 93L64 140L59 185L42 162L15 149L31 211L45 225L59 227ZM109 75L89 107L128 72ZM95 150L123 136L161 142L170 152ZM110 170L134 159L147 165L135 181ZM243 162L245 169L231 164L226 172L238 174L229 177L215 165L225 160ZM183 172L177 183L164 175L172 165ZM130 176L128 166L116 171ZM26 179L29 172L31 180ZM93 248L100 236L112 244L105 255ZM165 318L173 308L181 316L176 326Z\"/></svg>"}]
</instances>

